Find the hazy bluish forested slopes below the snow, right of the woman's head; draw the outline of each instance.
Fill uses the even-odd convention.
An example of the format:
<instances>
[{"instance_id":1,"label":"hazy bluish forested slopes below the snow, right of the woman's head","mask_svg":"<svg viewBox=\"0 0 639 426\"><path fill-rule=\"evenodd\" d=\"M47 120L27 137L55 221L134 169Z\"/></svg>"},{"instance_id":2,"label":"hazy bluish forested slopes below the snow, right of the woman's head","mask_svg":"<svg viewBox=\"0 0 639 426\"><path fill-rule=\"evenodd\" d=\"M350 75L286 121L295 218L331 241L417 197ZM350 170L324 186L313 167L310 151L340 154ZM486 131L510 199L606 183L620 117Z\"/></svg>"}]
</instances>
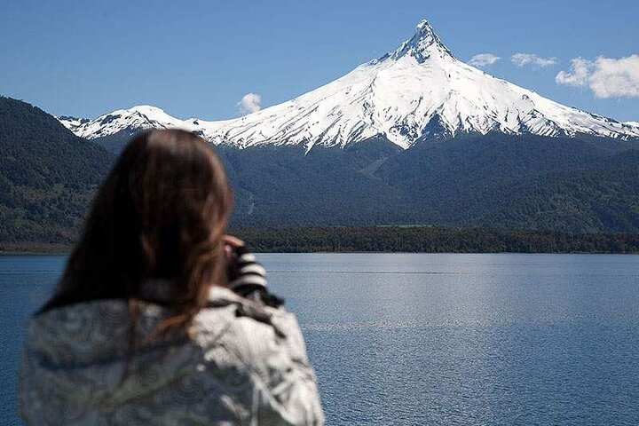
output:
<instances>
[{"instance_id":1,"label":"hazy bluish forested slopes below the snow, right of the woman's head","mask_svg":"<svg viewBox=\"0 0 639 426\"><path fill-rule=\"evenodd\" d=\"M406 151L220 148L235 225L445 225L639 232L639 143L532 135L454 138Z\"/></svg>"}]
</instances>

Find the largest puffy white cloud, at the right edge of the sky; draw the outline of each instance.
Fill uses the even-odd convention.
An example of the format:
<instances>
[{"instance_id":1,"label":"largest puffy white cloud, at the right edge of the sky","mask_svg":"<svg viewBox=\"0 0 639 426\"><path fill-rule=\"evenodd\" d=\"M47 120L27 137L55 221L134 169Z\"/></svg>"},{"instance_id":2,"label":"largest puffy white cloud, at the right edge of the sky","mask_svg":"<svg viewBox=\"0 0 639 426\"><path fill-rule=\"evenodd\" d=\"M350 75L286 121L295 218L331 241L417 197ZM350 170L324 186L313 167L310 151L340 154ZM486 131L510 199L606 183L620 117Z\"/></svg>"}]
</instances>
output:
<instances>
[{"instance_id":1,"label":"largest puffy white cloud, at the right edge of the sky","mask_svg":"<svg viewBox=\"0 0 639 426\"><path fill-rule=\"evenodd\" d=\"M597 98L639 98L639 55L572 59L570 71L560 71L555 81L588 87Z\"/></svg>"}]
</instances>

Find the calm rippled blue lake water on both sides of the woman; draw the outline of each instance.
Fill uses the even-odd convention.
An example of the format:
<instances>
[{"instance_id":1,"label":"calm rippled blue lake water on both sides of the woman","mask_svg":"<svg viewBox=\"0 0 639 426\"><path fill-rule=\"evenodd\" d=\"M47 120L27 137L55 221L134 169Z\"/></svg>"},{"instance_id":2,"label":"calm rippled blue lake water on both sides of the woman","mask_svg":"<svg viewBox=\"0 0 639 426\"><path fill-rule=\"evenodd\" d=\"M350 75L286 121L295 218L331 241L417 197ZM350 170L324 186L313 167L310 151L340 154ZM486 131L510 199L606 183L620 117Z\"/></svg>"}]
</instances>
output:
<instances>
[{"instance_id":1,"label":"calm rippled blue lake water on both sides of the woman","mask_svg":"<svg viewBox=\"0 0 639 426\"><path fill-rule=\"evenodd\" d=\"M639 256L258 255L327 424L639 424ZM0 256L0 424L64 256Z\"/></svg>"}]
</instances>

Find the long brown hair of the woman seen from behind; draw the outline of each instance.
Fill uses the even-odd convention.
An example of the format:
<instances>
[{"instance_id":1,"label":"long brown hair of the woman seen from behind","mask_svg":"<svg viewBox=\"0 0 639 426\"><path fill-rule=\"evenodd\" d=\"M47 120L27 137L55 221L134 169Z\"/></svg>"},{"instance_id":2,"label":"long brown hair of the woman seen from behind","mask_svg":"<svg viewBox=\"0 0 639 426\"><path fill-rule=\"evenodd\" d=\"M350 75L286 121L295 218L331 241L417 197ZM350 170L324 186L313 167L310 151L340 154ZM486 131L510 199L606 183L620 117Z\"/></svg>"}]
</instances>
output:
<instances>
[{"instance_id":1,"label":"long brown hair of the woman seen from behind","mask_svg":"<svg viewBox=\"0 0 639 426\"><path fill-rule=\"evenodd\" d=\"M185 325L225 280L222 237L232 207L225 170L209 144L184 130L150 130L130 141L99 189L83 235L41 312L125 299L137 317L143 282L169 282ZM136 318L131 318L135 327Z\"/></svg>"}]
</instances>

